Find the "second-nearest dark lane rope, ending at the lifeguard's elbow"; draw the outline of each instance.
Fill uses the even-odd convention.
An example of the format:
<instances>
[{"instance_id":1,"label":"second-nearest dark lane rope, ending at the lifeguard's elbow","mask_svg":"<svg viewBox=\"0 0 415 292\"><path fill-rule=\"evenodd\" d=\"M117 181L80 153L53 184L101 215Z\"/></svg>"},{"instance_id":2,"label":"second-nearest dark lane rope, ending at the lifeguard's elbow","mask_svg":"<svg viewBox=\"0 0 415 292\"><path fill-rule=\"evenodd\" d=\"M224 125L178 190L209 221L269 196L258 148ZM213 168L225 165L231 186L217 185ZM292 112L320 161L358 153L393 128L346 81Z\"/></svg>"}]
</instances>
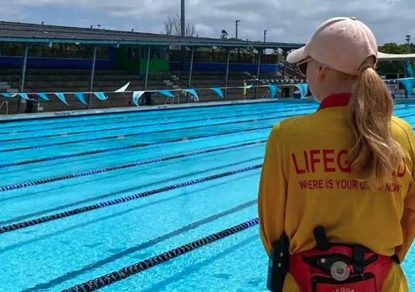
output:
<instances>
[{"instance_id":1,"label":"second-nearest dark lane rope, ending at the lifeguard's elbow","mask_svg":"<svg viewBox=\"0 0 415 292\"><path fill-rule=\"evenodd\" d=\"M222 177L228 177L230 175L236 175L236 174L239 174L239 173L245 173L247 171L253 171L253 170L259 169L261 167L262 167L262 164L256 164L256 165L253 165L253 166L239 168L239 169L236 169L234 171L226 171L225 173L216 173L216 175L209 175L208 177L201 177L199 179L192 179L192 180L187 181L187 182L181 182L181 183L178 183L178 184L163 186L161 188L155 188L155 189L150 190L150 191L137 193L135 195L129 195L127 197L120 197L118 199L110 199L110 200L105 201L105 202L100 202L98 204L84 206L84 207L81 207L81 208L75 208L75 209L72 209L72 210L69 210L69 211L56 213L54 215L48 215L48 216L39 217L39 218L36 218L36 219L33 219L33 220L28 220L28 221L25 221L25 222L19 222L19 223L16 223L16 224L10 224L10 225L7 225L7 226L2 226L2 227L0 227L0 234L7 233L7 232L10 232L10 231L16 231L16 230L19 230L21 228L34 226L34 225L42 224L42 223L45 223L45 222L50 222L50 221L53 221L53 220L58 220L58 219L61 219L61 218L64 218L64 217L69 217L69 216L77 215L77 214L80 214L80 213L85 213L85 212L88 212L88 211L97 210L97 209L100 209L100 208L105 208L105 207L108 207L108 206L113 206L113 205L116 205L116 204L122 204L122 203L125 203L125 202L132 201L134 199L140 199L142 197L148 197L150 195L156 195L156 194L159 194L159 193L163 193L165 191L172 191L172 190L175 190L177 188L183 188L185 186L192 186L194 184L200 184L201 182L209 182L213 179L219 179L219 178L222 178Z\"/></svg>"}]
</instances>

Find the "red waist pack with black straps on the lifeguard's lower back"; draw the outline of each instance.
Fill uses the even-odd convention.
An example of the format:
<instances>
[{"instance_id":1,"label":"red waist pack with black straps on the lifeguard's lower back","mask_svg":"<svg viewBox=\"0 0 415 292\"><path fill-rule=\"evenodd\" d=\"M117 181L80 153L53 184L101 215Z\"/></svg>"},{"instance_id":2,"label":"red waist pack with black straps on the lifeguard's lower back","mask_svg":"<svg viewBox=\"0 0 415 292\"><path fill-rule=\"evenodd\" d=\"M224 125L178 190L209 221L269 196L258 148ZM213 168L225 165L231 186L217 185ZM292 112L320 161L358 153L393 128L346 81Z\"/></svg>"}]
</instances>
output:
<instances>
[{"instance_id":1,"label":"red waist pack with black straps on the lifeguard's lower back","mask_svg":"<svg viewBox=\"0 0 415 292\"><path fill-rule=\"evenodd\" d=\"M363 246L317 244L288 261L301 292L381 292L393 259Z\"/></svg>"}]
</instances>

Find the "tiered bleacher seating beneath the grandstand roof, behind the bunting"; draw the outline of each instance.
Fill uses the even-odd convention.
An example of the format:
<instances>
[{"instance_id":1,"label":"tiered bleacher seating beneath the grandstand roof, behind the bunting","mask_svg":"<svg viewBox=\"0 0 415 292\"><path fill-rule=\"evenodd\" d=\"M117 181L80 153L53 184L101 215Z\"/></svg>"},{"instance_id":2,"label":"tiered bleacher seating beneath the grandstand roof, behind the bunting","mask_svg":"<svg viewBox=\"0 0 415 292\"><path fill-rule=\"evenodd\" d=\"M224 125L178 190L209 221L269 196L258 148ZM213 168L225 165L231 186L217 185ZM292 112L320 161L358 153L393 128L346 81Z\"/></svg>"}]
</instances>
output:
<instances>
[{"instance_id":1,"label":"tiered bleacher seating beneath the grandstand roof, behind the bunting","mask_svg":"<svg viewBox=\"0 0 415 292\"><path fill-rule=\"evenodd\" d=\"M189 72L151 72L147 81L147 90L173 90L187 88ZM279 79L277 73L261 73L261 79ZM20 69L0 69L0 81L3 92L17 92L19 88ZM89 70L62 70L62 69L28 69L24 92L30 93L71 93L89 91L91 76ZM255 75L248 72L229 72L228 87L243 86L246 79L255 79ZM93 82L93 91L114 91L130 82L128 90L143 90L144 75L139 72L129 72L126 70L96 70ZM250 84L255 85L255 81ZM264 85L264 84L259 84ZM194 71L192 74L192 88L198 90L200 100L220 101L220 97L212 90L201 90L202 88L225 87L225 72L201 72ZM266 93L267 88L259 88L257 98L261 98ZM225 90L224 90L225 91ZM181 102L185 101L185 93L177 92L181 95ZM176 93L174 93L176 94ZM80 110L86 106L82 104L75 95L66 95L69 106L59 101L55 95L48 95L50 101L39 100L40 111L60 111L60 110ZM88 95L85 97L88 98ZM226 90L227 100L237 100L243 98L243 89ZM255 89L248 90L248 99L255 98ZM3 100L3 99L1 99ZM16 99L8 99L10 112L17 110ZM169 101L170 102L170 101ZM177 100L175 101L177 102ZM165 104L166 97L154 94L154 104ZM118 108L133 106L131 93L110 93L109 99L100 101L95 96L91 97L91 108ZM22 106L26 108L26 106Z\"/></svg>"}]
</instances>

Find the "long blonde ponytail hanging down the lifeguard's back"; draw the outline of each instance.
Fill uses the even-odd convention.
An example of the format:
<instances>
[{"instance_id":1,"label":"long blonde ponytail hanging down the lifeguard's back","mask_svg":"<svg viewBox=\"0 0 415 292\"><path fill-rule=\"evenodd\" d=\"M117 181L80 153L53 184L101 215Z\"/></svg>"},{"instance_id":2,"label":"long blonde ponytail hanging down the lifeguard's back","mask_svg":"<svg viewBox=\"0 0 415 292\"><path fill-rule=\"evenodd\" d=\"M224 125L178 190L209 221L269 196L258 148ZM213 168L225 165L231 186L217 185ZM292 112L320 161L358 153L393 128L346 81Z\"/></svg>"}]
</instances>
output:
<instances>
[{"instance_id":1,"label":"long blonde ponytail hanging down the lifeguard's back","mask_svg":"<svg viewBox=\"0 0 415 292\"><path fill-rule=\"evenodd\" d=\"M382 188L397 170L404 153L391 135L394 102L368 58L360 66L360 81L349 102L349 122L356 144L348 155L352 173L368 188Z\"/></svg>"}]
</instances>

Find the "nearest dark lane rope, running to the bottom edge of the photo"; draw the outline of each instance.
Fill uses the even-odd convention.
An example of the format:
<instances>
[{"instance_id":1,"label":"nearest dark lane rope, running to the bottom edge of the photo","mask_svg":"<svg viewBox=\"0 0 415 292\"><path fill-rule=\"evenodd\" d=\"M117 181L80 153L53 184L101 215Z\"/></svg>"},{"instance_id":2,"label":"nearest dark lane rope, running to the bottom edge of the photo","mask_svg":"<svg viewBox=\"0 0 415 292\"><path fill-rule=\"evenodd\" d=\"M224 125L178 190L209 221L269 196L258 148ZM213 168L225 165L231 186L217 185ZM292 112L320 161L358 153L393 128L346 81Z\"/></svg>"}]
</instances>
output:
<instances>
[{"instance_id":1,"label":"nearest dark lane rope, running to the bottom edge of the photo","mask_svg":"<svg viewBox=\"0 0 415 292\"><path fill-rule=\"evenodd\" d=\"M131 266L126 266L120 271L114 271L107 275L103 275L101 277L95 278L94 280L84 282L82 284L73 286L71 288L62 290L62 292L91 292L96 291L98 289L104 288L105 286L109 286L113 283L120 282L126 278L131 277L132 275L136 275L141 273L142 271L146 271L148 269L153 268L154 266L158 266L159 264L163 264L169 260L173 260L176 257L184 255L185 253L190 253L190 251L194 251L195 249L200 249L202 246L206 246L211 244L212 242L216 242L221 240L225 237L229 237L230 235L234 235L235 233L239 233L244 231L252 226L259 224L258 218L243 222L239 225L233 226L231 228L225 229L218 233L214 233L212 235L208 235L206 237L201 238L200 240L196 240L194 242L190 242L183 246L179 246L176 249L172 249L160 255L156 255L154 257L150 257L147 260L143 260L136 264L132 264Z\"/></svg>"}]
</instances>

